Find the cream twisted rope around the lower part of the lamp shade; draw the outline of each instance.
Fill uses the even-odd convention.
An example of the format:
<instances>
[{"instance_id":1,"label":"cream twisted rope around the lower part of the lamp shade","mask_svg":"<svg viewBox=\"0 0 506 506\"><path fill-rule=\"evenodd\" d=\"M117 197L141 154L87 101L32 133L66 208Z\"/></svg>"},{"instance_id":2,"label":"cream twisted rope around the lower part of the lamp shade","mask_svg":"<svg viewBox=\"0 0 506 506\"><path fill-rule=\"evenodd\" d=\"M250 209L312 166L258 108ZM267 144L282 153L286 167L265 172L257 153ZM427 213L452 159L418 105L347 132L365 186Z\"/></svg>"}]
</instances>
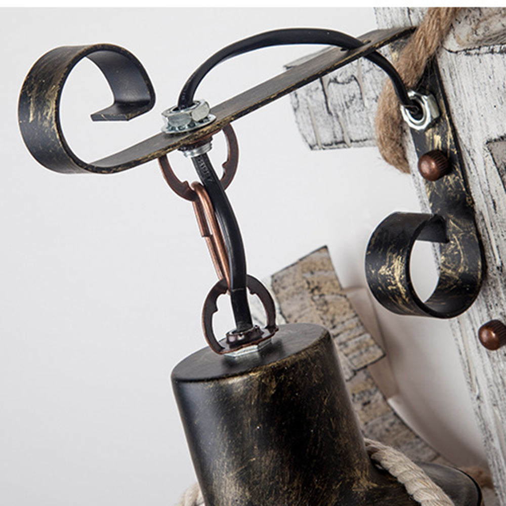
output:
<instances>
[{"instance_id":1,"label":"cream twisted rope around the lower part of the lamp shade","mask_svg":"<svg viewBox=\"0 0 506 506\"><path fill-rule=\"evenodd\" d=\"M407 493L421 506L454 506L453 501L443 489L406 455L372 439L365 439L364 442L370 459L404 485ZM178 506L202 506L203 504L202 492L195 483L182 495Z\"/></svg>"}]
</instances>

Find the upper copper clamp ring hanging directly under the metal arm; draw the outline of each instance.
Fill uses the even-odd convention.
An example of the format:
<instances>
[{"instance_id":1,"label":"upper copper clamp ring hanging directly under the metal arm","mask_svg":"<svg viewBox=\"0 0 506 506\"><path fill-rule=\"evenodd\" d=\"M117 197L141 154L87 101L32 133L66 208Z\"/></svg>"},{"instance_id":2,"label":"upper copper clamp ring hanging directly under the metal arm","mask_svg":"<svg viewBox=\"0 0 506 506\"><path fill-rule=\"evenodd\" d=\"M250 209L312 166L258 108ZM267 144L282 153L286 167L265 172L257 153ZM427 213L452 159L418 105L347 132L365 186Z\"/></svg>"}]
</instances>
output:
<instances>
[{"instance_id":1,"label":"upper copper clamp ring hanging directly under the metal arm","mask_svg":"<svg viewBox=\"0 0 506 506\"><path fill-rule=\"evenodd\" d=\"M223 127L223 133L227 141L227 160L222 164L223 176L221 178L221 184L223 189L226 190L232 180L234 179L237 171L237 164L239 162L239 146L237 144L237 137L230 124ZM168 162L167 155L163 155L158 158L163 177L174 192L180 197L186 200L195 200L197 194L190 188L188 181L180 181L174 171L172 170L171 164Z\"/></svg>"}]
</instances>

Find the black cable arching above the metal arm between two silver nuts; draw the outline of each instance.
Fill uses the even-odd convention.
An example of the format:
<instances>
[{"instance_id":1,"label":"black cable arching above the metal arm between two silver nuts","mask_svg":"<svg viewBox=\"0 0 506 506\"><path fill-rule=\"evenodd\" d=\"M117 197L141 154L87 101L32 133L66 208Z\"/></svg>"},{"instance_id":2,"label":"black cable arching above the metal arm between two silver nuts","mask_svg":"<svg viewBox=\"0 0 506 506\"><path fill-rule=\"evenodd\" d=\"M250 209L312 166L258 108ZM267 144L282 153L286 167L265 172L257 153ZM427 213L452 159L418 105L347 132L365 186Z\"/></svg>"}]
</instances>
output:
<instances>
[{"instance_id":1,"label":"black cable arching above the metal arm between two silver nuts","mask_svg":"<svg viewBox=\"0 0 506 506\"><path fill-rule=\"evenodd\" d=\"M322 28L283 28L252 35L251 37L238 40L226 46L205 60L205 62L193 72L183 86L179 94L178 108L186 109L193 104L198 85L205 75L219 63L256 49L292 44L325 44L329 46L339 46L344 49L356 49L364 45L361 40L351 35ZM395 67L384 56L377 52L370 53L366 55L365 58L388 74L392 80L392 85L400 103L404 107L409 108L414 117L420 115L421 111L418 104L408 97L404 82L397 73Z\"/></svg>"}]
</instances>

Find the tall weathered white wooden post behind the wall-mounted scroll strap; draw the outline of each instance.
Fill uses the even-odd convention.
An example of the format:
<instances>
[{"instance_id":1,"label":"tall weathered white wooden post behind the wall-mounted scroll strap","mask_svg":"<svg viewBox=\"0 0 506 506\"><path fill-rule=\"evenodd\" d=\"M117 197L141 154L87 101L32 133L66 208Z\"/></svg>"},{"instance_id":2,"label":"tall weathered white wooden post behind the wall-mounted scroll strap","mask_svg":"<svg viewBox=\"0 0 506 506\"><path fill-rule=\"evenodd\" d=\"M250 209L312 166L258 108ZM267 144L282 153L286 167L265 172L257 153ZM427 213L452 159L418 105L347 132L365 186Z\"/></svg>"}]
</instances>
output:
<instances>
[{"instance_id":1,"label":"tall weathered white wooden post behind the wall-mounted scroll strap","mask_svg":"<svg viewBox=\"0 0 506 506\"><path fill-rule=\"evenodd\" d=\"M389 10L378 9L376 13L380 26L396 24ZM407 13L410 18L420 14L421 10L418 13L409 10ZM462 19L467 19L470 23L469 31L473 26L480 28L476 19L474 25L471 23L471 14L473 13L468 11L461 13L463 18L459 16L461 31L464 23ZM482 28L480 30L484 31ZM476 35L478 38L482 33ZM468 37L468 40L471 38ZM477 340L477 332L486 321L492 318L504 320L506 317L506 285L502 279L501 260L506 255L506 192L501 179L501 174L504 175L504 160L500 160L503 155L501 138L504 136L506 117L505 51L504 46L484 46L461 52L444 49L438 56L475 201L477 224L487 264L487 276L477 301L464 315L452 320L451 328L482 433L497 498L502 506L506 504L506 352L490 352L483 348ZM405 140L410 165L415 166L414 147L409 136ZM421 178L416 173L413 178L419 199L427 208Z\"/></svg>"}]
</instances>

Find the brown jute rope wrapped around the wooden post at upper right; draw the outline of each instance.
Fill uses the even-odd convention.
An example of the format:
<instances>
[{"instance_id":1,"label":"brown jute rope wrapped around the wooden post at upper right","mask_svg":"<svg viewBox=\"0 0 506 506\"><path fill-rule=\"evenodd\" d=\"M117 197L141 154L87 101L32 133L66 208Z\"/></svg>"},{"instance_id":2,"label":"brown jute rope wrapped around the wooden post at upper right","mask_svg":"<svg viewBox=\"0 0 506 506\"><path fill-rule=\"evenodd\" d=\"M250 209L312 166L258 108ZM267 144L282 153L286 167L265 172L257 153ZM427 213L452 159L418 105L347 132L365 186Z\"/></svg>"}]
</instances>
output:
<instances>
[{"instance_id":1,"label":"brown jute rope wrapped around the wooden post at upper right","mask_svg":"<svg viewBox=\"0 0 506 506\"><path fill-rule=\"evenodd\" d=\"M433 7L413 33L399 55L395 67L407 88L413 88L448 34L460 7ZM402 145L402 117L399 102L390 82L378 99L376 144L383 158L401 172L409 173Z\"/></svg>"}]
</instances>

